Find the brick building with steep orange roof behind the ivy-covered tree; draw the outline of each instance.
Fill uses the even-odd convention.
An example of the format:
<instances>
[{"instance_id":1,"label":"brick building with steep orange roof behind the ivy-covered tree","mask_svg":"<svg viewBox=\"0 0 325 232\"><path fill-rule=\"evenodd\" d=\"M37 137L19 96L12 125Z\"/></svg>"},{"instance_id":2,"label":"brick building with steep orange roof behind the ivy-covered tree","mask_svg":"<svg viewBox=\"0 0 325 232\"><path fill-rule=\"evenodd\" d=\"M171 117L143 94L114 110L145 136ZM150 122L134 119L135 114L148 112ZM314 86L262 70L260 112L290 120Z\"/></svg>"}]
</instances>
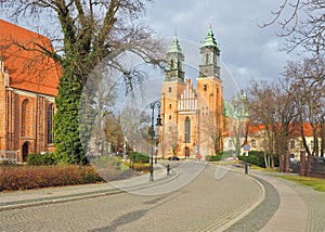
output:
<instances>
[{"instance_id":1,"label":"brick building with steep orange roof behind the ivy-covered tree","mask_svg":"<svg viewBox=\"0 0 325 232\"><path fill-rule=\"evenodd\" d=\"M17 46L18 44L18 46ZM0 20L0 160L51 152L60 67L37 50L49 38ZM29 51L27 51L29 50Z\"/></svg>"}]
</instances>

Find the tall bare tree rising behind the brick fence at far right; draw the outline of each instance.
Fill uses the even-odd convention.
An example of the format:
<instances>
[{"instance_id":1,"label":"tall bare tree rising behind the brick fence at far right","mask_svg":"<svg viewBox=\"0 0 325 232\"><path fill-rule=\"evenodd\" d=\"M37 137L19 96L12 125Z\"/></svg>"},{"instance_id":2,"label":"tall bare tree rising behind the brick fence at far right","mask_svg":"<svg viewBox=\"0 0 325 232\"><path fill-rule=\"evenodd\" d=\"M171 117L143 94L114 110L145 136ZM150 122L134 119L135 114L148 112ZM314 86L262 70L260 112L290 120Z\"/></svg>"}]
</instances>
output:
<instances>
[{"instance_id":1,"label":"tall bare tree rising behind the brick fence at far right","mask_svg":"<svg viewBox=\"0 0 325 232\"><path fill-rule=\"evenodd\" d=\"M284 73L287 91L294 96L292 103L295 103L303 146L309 155L316 156L320 154L318 138L324 136L324 132L321 131L325 114L324 62L324 59L320 57L306 59L303 62L289 62ZM312 127L312 147L306 140L304 123L309 123ZM321 144L321 147L324 147L324 143Z\"/></svg>"}]
</instances>

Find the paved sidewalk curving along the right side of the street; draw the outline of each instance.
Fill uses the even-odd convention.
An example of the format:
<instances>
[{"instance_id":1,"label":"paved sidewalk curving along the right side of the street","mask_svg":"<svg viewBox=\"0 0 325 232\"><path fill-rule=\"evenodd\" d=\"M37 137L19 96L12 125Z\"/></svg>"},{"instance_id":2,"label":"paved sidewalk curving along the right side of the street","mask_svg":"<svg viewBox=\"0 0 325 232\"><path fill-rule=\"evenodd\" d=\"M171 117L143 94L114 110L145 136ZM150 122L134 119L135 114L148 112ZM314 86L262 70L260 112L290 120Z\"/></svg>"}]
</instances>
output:
<instances>
[{"instance_id":1,"label":"paved sidewalk curving along the right side of the street","mask_svg":"<svg viewBox=\"0 0 325 232\"><path fill-rule=\"evenodd\" d=\"M244 175L244 169L232 170ZM259 182L265 190L263 199L248 214L236 218L235 222L229 229L222 231L310 231L308 230L310 228L308 221L310 208L307 202L296 189L291 188L291 182L276 177L281 175L294 173L266 172L250 169L248 176ZM307 190L313 191L312 189Z\"/></svg>"}]
</instances>

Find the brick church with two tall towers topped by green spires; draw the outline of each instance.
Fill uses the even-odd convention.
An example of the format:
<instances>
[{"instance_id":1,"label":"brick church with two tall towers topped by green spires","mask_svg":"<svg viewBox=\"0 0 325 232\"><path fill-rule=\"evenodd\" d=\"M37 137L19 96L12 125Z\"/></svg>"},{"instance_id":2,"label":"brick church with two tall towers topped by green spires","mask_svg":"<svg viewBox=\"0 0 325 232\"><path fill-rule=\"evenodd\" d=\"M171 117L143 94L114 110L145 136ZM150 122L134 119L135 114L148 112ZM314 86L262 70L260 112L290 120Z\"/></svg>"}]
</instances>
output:
<instances>
[{"instance_id":1,"label":"brick church with two tall towers topped by green spires","mask_svg":"<svg viewBox=\"0 0 325 232\"><path fill-rule=\"evenodd\" d=\"M174 151L181 157L205 157L214 154L214 149L222 150L223 88L220 79L220 49L211 28L199 53L196 90L191 79L184 78L184 54L177 36L166 53L159 139L160 150L165 147L167 156Z\"/></svg>"}]
</instances>

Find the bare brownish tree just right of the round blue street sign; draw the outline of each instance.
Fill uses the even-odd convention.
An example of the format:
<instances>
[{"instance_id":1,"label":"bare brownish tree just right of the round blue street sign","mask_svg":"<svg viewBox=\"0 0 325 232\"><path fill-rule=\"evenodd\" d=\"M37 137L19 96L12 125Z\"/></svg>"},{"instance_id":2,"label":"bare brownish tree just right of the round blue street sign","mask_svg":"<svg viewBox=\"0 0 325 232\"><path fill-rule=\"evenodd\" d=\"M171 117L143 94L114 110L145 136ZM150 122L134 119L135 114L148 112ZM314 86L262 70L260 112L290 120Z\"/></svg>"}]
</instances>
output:
<instances>
[{"instance_id":1,"label":"bare brownish tree just right of the round blue street sign","mask_svg":"<svg viewBox=\"0 0 325 232\"><path fill-rule=\"evenodd\" d=\"M288 151L289 139L294 131L296 113L292 96L283 91L282 86L265 81L253 82L249 89L249 96L251 124L264 125L266 153L271 155L270 166L274 168L274 155L285 154Z\"/></svg>"}]
</instances>

